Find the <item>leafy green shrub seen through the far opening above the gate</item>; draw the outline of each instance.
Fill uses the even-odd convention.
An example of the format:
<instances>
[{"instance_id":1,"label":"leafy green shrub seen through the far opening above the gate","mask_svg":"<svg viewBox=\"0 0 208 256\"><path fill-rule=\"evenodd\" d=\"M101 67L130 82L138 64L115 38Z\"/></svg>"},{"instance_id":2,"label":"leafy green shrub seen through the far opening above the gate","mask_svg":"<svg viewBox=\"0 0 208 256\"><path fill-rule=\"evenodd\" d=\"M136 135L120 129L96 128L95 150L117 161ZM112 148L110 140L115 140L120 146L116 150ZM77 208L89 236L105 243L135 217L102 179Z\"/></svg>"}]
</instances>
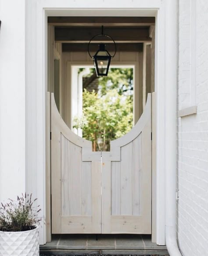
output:
<instances>
[{"instance_id":1,"label":"leafy green shrub seen through the far opening above the gate","mask_svg":"<svg viewBox=\"0 0 208 256\"><path fill-rule=\"evenodd\" d=\"M94 151L109 151L110 141L129 132L133 126L133 103L130 96L120 95L117 89L105 95L83 92L83 116L74 119L74 128L93 141ZM101 141L99 144L98 142Z\"/></svg>"}]
</instances>

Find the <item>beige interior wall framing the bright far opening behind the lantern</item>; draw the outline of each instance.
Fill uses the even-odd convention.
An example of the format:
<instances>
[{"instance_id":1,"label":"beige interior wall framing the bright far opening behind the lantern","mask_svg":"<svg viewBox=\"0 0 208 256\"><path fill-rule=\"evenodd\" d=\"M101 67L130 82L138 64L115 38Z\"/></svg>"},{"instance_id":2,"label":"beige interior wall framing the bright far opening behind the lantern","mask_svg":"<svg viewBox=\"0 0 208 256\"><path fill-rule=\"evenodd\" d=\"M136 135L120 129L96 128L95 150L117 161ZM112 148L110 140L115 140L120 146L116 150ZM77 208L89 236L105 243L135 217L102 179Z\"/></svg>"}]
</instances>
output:
<instances>
[{"instance_id":1,"label":"beige interior wall framing the bright far opening behind the lantern","mask_svg":"<svg viewBox=\"0 0 208 256\"><path fill-rule=\"evenodd\" d=\"M138 63L138 68L135 69L135 102L134 102L134 122L136 123L143 112L142 106L142 52L116 52L115 57L112 59L111 64L128 64ZM69 70L70 65L79 63L92 64L93 61L90 58L88 52L63 52L62 53L62 113L63 119L71 128L71 72Z\"/></svg>"}]
</instances>

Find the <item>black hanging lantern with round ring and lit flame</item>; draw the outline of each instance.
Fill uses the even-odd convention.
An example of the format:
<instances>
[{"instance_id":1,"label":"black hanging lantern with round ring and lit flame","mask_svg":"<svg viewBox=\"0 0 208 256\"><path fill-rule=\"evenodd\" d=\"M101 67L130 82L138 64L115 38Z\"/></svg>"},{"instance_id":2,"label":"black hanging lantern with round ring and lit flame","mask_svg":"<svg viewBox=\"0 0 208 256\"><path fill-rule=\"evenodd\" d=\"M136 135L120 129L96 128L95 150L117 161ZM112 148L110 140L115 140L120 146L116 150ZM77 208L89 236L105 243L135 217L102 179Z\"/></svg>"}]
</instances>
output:
<instances>
[{"instance_id":1,"label":"black hanging lantern with round ring and lit flame","mask_svg":"<svg viewBox=\"0 0 208 256\"><path fill-rule=\"evenodd\" d=\"M103 26L102 26L102 33L95 35L94 37L91 38L91 40L88 43L88 53L90 55L90 51L89 51L89 47L90 47L90 42L95 38L95 37L108 37L110 38L115 46L115 53L116 53L116 45L115 45L115 41L113 40L112 37L105 35L103 33ZM110 53L105 49L105 44L100 42L99 44L99 49L97 50L96 54L92 57L90 55L90 57L93 59L94 62L94 66L96 67L96 73L97 76L107 76L108 75L108 70L110 67L110 63L111 63L111 59L115 56L115 53L113 56L110 55Z\"/></svg>"}]
</instances>

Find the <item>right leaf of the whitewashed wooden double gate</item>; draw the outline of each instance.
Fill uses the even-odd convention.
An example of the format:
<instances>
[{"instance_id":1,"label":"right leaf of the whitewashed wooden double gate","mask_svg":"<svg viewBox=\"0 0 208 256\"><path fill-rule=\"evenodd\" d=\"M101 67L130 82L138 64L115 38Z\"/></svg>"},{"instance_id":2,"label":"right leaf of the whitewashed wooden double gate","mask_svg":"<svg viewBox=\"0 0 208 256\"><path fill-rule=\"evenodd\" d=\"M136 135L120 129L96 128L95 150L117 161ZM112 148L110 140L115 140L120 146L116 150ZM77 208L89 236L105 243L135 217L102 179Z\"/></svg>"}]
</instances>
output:
<instances>
[{"instance_id":1,"label":"right leaf of the whitewashed wooden double gate","mask_svg":"<svg viewBox=\"0 0 208 256\"><path fill-rule=\"evenodd\" d=\"M151 234L151 94L134 128L102 152L102 233Z\"/></svg>"}]
</instances>

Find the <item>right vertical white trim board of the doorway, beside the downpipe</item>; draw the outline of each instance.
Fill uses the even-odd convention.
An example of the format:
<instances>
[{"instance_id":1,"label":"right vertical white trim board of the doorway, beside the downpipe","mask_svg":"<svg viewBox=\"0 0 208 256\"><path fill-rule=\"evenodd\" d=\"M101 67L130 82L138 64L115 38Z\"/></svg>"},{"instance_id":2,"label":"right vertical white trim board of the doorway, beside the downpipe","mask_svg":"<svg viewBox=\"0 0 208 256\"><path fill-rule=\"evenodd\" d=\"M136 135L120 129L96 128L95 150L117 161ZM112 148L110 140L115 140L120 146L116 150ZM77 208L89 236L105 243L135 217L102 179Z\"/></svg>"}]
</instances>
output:
<instances>
[{"instance_id":1,"label":"right vertical white trim board of the doorway, beside the downpipe","mask_svg":"<svg viewBox=\"0 0 208 256\"><path fill-rule=\"evenodd\" d=\"M165 7L155 20L156 243L165 245Z\"/></svg>"}]
</instances>

